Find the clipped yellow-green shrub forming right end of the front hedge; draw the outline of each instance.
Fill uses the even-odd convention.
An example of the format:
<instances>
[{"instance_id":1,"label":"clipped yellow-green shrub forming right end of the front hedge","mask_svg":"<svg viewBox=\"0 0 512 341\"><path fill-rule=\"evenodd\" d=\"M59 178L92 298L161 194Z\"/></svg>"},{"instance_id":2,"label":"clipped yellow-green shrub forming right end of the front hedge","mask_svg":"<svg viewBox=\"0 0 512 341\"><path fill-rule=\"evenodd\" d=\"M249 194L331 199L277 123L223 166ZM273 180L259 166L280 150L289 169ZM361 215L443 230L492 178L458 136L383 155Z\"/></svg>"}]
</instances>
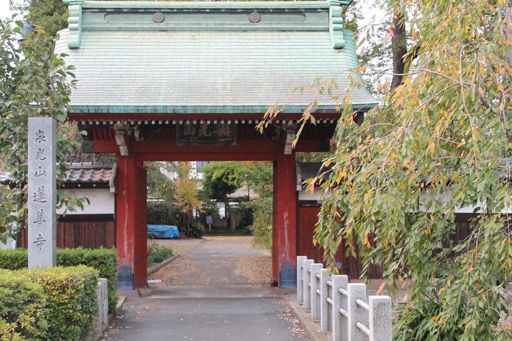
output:
<instances>
[{"instance_id":1,"label":"clipped yellow-green shrub forming right end of the front hedge","mask_svg":"<svg viewBox=\"0 0 512 341\"><path fill-rule=\"evenodd\" d=\"M48 321L46 339L81 340L92 331L97 307L97 270L78 265L17 272L39 284L45 292Z\"/></svg>"}]
</instances>

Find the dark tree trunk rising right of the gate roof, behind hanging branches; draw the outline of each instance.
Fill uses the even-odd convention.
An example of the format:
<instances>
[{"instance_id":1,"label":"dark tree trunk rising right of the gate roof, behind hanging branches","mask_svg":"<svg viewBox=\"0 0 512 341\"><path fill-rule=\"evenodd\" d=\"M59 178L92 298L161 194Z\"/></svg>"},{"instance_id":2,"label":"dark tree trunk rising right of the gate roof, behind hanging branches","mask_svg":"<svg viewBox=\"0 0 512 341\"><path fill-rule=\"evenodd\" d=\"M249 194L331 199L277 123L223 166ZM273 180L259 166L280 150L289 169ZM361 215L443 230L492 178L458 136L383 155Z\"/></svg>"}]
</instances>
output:
<instances>
[{"instance_id":1,"label":"dark tree trunk rising right of the gate roof, behind hanging branches","mask_svg":"<svg viewBox=\"0 0 512 341\"><path fill-rule=\"evenodd\" d=\"M402 74L405 68L405 60L403 56L407 53L406 41L406 23L403 14L395 13L393 17L393 30L395 36L391 40L391 50L393 51L393 79L391 80L391 89L393 91L402 83Z\"/></svg>"}]
</instances>

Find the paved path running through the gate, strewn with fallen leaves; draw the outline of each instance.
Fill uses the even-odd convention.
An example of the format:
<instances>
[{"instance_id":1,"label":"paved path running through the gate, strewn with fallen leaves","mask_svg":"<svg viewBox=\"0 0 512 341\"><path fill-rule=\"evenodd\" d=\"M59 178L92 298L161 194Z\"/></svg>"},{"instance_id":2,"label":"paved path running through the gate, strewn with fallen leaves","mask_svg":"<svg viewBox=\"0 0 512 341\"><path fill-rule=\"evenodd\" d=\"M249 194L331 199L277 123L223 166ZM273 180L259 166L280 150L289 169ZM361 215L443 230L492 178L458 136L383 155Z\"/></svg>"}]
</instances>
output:
<instances>
[{"instance_id":1,"label":"paved path running through the gate, strewn with fallen leaves","mask_svg":"<svg viewBox=\"0 0 512 341\"><path fill-rule=\"evenodd\" d=\"M253 260L271 264L268 252L250 249L250 242L248 237L209 237L183 251L152 276L165 286L129 297L104 339L307 340L282 297L272 295L268 284L248 284L254 276L247 272L258 263ZM269 270L262 270L267 283Z\"/></svg>"}]
</instances>

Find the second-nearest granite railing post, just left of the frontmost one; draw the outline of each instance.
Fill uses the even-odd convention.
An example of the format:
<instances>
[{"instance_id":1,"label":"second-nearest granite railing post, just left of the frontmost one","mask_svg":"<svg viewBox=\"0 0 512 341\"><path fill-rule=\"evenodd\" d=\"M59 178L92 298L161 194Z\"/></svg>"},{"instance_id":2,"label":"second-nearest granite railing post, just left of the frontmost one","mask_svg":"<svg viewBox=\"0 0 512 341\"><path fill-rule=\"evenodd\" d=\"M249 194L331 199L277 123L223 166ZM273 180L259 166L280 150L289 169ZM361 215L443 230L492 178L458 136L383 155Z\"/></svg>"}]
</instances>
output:
<instances>
[{"instance_id":1,"label":"second-nearest granite railing post, just left of the frontmost one","mask_svg":"<svg viewBox=\"0 0 512 341\"><path fill-rule=\"evenodd\" d=\"M357 299L366 302L366 285L362 283L348 284L348 331L350 341L366 341L366 334L355 325L360 322L368 324L368 311L360 307L355 301Z\"/></svg>"}]
</instances>

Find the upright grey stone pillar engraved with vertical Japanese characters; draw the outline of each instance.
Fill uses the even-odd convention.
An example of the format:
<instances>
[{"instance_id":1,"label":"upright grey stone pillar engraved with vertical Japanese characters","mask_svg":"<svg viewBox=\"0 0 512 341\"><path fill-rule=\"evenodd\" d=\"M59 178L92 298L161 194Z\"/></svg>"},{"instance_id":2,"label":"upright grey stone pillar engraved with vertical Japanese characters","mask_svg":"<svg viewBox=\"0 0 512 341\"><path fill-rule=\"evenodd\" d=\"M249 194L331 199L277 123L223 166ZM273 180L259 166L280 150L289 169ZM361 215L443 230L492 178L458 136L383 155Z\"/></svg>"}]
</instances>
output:
<instances>
[{"instance_id":1,"label":"upright grey stone pillar engraved with vertical Japanese characters","mask_svg":"<svg viewBox=\"0 0 512 341\"><path fill-rule=\"evenodd\" d=\"M56 265L56 122L29 117L29 268Z\"/></svg>"}]
</instances>

